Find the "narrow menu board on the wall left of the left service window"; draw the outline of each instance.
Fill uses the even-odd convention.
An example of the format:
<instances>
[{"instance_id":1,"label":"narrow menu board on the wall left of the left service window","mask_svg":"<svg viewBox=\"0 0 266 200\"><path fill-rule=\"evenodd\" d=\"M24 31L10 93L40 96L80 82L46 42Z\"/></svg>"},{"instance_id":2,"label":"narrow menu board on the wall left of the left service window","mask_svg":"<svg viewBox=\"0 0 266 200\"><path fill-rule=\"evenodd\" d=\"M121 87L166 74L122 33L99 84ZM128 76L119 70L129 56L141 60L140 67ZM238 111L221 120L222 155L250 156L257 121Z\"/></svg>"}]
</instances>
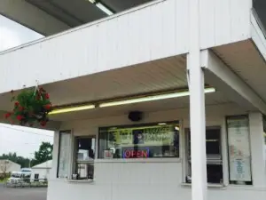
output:
<instances>
[{"instance_id":1,"label":"narrow menu board on the wall left of the left service window","mask_svg":"<svg viewBox=\"0 0 266 200\"><path fill-rule=\"evenodd\" d=\"M69 164L70 164L70 144L71 134L70 132L59 133L59 169L58 177L67 178Z\"/></svg>"}]
</instances>

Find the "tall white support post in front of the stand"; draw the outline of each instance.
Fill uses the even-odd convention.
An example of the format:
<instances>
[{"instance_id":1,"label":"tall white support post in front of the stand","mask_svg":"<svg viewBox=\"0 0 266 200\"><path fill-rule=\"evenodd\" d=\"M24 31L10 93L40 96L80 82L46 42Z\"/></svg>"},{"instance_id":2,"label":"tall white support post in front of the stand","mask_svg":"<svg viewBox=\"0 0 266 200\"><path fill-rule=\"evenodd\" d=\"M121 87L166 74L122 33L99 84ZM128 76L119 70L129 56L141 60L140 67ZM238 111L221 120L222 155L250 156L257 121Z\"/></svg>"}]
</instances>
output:
<instances>
[{"instance_id":1,"label":"tall white support post in front of the stand","mask_svg":"<svg viewBox=\"0 0 266 200\"><path fill-rule=\"evenodd\" d=\"M207 200L204 73L200 65L200 0L190 0L189 18L187 68L191 93L192 200Z\"/></svg>"}]
</instances>

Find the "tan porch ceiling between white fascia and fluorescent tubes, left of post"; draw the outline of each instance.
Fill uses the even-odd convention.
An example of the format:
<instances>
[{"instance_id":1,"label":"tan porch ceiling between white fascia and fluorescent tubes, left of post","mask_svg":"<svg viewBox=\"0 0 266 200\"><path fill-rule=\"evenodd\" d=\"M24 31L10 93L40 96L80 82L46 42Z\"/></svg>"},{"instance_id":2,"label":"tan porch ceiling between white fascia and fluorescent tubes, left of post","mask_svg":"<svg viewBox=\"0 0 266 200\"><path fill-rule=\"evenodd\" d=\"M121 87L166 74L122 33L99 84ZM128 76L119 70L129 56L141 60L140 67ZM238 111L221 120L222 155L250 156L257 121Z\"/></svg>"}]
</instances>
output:
<instances>
[{"instance_id":1,"label":"tan porch ceiling between white fascia and fluorescent tubes, left of post","mask_svg":"<svg viewBox=\"0 0 266 200\"><path fill-rule=\"evenodd\" d=\"M185 57L172 57L45 85L54 104L107 100L187 88Z\"/></svg>"}]
</instances>

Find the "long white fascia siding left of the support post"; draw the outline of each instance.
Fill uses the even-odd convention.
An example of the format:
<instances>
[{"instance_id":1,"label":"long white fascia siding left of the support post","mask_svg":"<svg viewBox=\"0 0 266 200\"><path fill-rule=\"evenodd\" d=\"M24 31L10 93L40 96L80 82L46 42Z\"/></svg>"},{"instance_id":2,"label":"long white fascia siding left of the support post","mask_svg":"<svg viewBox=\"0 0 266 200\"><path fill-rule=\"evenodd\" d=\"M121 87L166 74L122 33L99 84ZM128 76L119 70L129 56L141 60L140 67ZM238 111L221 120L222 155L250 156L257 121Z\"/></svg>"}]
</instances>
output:
<instances>
[{"instance_id":1,"label":"long white fascia siding left of the support post","mask_svg":"<svg viewBox=\"0 0 266 200\"><path fill-rule=\"evenodd\" d=\"M187 0L160 0L4 52L0 93L185 53L187 14Z\"/></svg>"}]
</instances>

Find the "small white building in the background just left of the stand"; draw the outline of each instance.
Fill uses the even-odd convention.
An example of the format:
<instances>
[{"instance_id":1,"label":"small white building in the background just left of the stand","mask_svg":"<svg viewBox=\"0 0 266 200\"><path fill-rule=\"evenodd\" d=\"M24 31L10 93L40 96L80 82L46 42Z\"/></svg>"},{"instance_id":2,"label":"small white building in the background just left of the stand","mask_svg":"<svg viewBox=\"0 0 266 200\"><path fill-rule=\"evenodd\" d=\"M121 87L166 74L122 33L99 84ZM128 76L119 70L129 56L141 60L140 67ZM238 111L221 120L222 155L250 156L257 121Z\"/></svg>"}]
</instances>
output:
<instances>
[{"instance_id":1,"label":"small white building in the background just left of the stand","mask_svg":"<svg viewBox=\"0 0 266 200\"><path fill-rule=\"evenodd\" d=\"M50 171L51 171L52 160L46 161L43 164L37 164L33 166L31 179L35 180L44 180L49 179Z\"/></svg>"}]
</instances>

